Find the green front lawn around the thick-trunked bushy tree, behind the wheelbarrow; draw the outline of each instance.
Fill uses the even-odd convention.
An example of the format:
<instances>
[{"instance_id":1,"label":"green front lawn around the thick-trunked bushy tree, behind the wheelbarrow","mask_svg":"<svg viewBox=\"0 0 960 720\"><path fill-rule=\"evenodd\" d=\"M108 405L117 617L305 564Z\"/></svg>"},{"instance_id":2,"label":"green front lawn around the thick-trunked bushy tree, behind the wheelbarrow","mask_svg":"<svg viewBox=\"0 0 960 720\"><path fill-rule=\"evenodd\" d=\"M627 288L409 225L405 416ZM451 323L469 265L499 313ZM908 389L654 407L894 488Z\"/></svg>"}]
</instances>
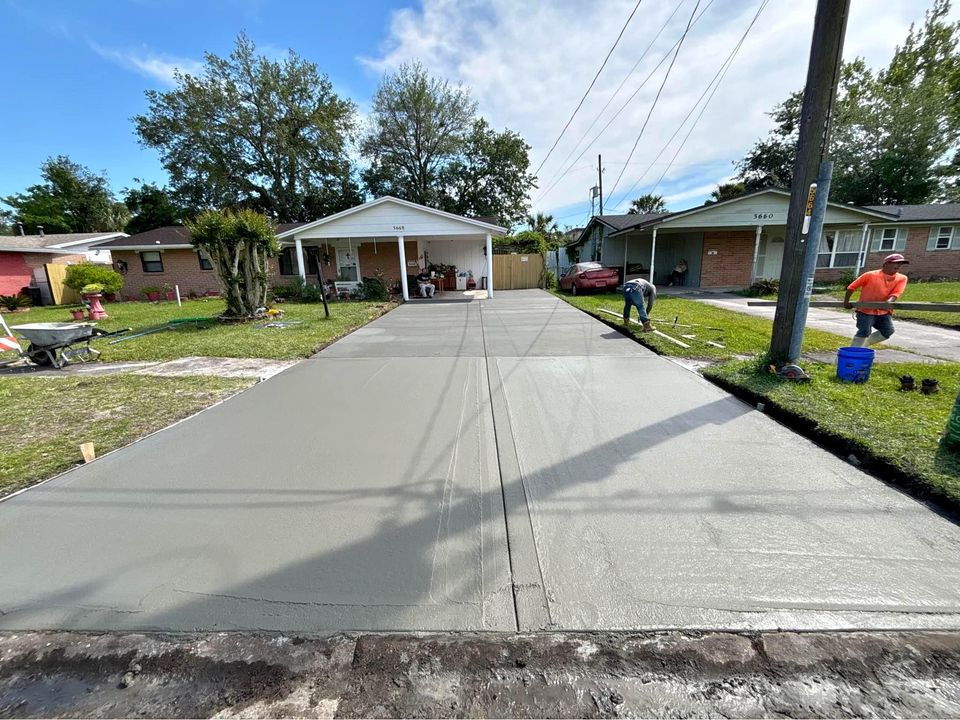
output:
<instances>
[{"instance_id":1,"label":"green front lawn around the thick-trunked bushy tree, behind the wheelbarrow","mask_svg":"<svg viewBox=\"0 0 960 720\"><path fill-rule=\"evenodd\" d=\"M109 340L94 342L103 355L101 360L173 360L198 355L202 357L255 357L293 360L307 357L319 348L346 335L394 307L392 303L342 302L330 304L330 318L323 316L322 304L284 303L284 321L301 323L283 329L257 329L255 323L223 324L211 322L203 326L184 325L176 330L145 335L116 345ZM174 318L215 317L223 312L219 298L184 301L183 307L173 302L124 302L105 305L110 319L97 326L104 330L148 328ZM56 322L71 319L64 307L38 307L28 312L4 315L9 325L33 322Z\"/></svg>"}]
</instances>

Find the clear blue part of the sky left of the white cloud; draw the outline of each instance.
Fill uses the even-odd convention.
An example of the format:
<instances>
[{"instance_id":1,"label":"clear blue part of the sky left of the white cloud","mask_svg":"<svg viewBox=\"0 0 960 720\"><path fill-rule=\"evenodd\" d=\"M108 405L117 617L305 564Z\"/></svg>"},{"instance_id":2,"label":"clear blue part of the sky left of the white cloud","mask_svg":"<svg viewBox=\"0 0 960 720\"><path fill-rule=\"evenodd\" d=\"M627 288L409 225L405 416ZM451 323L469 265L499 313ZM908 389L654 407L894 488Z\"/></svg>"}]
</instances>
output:
<instances>
[{"instance_id":1,"label":"clear blue part of the sky left of the white cloud","mask_svg":"<svg viewBox=\"0 0 960 720\"><path fill-rule=\"evenodd\" d=\"M399 5L377 0L357 12L341 2L0 0L8 109L0 113L0 196L39 182L41 162L61 153L107 171L116 190L135 177L162 184L157 154L138 145L130 118L146 109L145 90L169 89L165 64L226 55L241 30L268 54L296 49L340 94L368 102L379 73L357 58L377 53ZM151 61L152 72L143 67Z\"/></svg>"}]
</instances>

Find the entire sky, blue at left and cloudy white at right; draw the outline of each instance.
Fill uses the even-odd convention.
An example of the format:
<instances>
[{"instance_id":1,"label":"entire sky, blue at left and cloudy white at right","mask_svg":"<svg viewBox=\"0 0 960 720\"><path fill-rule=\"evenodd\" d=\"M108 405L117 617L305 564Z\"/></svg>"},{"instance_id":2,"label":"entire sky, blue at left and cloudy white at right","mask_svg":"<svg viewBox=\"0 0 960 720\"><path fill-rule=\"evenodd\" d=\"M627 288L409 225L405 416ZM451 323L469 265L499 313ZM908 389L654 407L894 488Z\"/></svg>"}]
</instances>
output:
<instances>
[{"instance_id":1,"label":"entire sky, blue at left and cloudy white at right","mask_svg":"<svg viewBox=\"0 0 960 720\"><path fill-rule=\"evenodd\" d=\"M845 56L886 64L931 1L856 0ZM552 212L564 225L582 224L590 212L598 153L604 158L608 210L612 203L614 212L649 191L665 195L671 209L690 207L728 179L732 162L768 130L766 112L802 85L807 64L816 0L769 0L700 122L692 129L682 124L761 3L642 2L583 111L539 173L533 209ZM531 145L536 168L634 5L635 0L0 0L6 100L0 113L0 196L38 182L40 164L57 154L105 171L118 192L134 178L163 184L158 157L137 144L130 118L145 110L145 90L172 87L172 67L195 70L205 51L228 54L241 30L267 55L293 48L317 63L361 111L383 72L421 60L433 73L467 86L494 127L519 132ZM695 7L706 9L703 21L691 30L638 139L664 77L666 66L655 66ZM649 54L631 72L647 45ZM609 109L601 112L608 100Z\"/></svg>"}]
</instances>

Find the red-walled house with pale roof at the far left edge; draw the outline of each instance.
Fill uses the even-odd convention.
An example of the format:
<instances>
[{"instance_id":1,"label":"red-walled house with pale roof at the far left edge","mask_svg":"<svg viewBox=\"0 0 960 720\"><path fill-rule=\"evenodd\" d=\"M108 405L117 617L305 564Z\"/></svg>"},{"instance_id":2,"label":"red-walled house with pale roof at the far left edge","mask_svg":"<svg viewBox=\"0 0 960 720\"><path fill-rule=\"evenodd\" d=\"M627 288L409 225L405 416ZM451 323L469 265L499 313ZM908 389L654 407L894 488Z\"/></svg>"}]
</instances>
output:
<instances>
[{"instance_id":1,"label":"red-walled house with pale roof at the far left edge","mask_svg":"<svg viewBox=\"0 0 960 720\"><path fill-rule=\"evenodd\" d=\"M126 237L126 233L0 235L0 295L15 295L23 288L38 288L43 302L51 302L46 265L70 265L96 259L97 255L107 256L91 246L118 237Z\"/></svg>"}]
</instances>

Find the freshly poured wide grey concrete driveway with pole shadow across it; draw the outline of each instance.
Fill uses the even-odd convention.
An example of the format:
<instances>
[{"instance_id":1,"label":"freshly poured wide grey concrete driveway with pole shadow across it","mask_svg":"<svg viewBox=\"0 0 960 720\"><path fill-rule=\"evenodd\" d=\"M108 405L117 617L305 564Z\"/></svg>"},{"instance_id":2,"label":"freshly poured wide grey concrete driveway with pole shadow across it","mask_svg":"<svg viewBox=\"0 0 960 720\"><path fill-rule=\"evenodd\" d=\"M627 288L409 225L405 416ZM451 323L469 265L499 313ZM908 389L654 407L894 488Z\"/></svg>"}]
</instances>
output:
<instances>
[{"instance_id":1,"label":"freshly poured wide grey concrete driveway with pole shadow across it","mask_svg":"<svg viewBox=\"0 0 960 720\"><path fill-rule=\"evenodd\" d=\"M960 528L538 291L0 504L0 568L5 629L960 626Z\"/></svg>"}]
</instances>

